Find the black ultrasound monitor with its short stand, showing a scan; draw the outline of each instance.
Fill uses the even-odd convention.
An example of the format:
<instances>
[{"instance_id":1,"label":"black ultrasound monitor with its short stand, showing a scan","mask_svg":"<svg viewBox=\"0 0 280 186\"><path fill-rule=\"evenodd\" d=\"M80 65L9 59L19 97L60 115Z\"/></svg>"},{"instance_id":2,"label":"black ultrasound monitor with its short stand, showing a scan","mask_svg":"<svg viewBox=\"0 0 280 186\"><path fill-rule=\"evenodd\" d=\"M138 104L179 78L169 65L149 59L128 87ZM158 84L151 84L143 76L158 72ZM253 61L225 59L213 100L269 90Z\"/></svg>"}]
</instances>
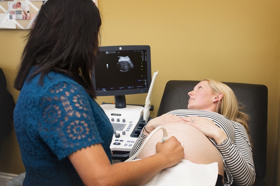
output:
<instances>
[{"instance_id":1,"label":"black ultrasound monitor with its short stand, showing a scan","mask_svg":"<svg viewBox=\"0 0 280 186\"><path fill-rule=\"evenodd\" d=\"M92 82L96 96L115 96L125 108L125 95L147 93L151 84L150 46L100 46Z\"/></svg>"}]
</instances>

